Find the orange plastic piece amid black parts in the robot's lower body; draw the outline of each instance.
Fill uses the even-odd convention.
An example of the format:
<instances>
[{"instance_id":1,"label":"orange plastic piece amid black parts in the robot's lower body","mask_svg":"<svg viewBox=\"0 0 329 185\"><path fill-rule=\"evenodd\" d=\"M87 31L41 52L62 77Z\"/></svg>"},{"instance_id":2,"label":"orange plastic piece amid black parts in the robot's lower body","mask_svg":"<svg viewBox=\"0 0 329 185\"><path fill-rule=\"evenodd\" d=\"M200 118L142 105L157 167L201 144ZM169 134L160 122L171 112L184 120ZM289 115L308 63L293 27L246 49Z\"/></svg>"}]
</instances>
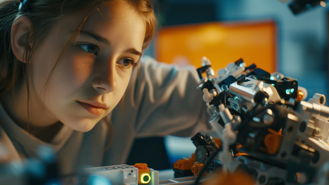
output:
<instances>
[{"instance_id":1,"label":"orange plastic piece amid black parts in the robot's lower body","mask_svg":"<svg viewBox=\"0 0 329 185\"><path fill-rule=\"evenodd\" d=\"M268 129L268 133L264 138L264 145L266 149L261 148L261 150L267 152L268 154L275 154L280 149L281 139L282 139L282 131L276 132Z\"/></svg>"}]
</instances>

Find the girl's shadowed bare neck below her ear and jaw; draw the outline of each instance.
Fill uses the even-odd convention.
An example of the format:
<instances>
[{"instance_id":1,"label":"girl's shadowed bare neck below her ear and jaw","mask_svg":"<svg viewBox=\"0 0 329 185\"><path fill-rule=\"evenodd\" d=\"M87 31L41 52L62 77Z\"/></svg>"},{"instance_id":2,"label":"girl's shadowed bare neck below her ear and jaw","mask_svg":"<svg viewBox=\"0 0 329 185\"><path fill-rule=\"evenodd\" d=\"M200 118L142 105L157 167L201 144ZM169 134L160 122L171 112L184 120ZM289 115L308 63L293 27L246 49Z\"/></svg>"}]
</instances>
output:
<instances>
[{"instance_id":1,"label":"girl's shadowed bare neck below her ear and jaw","mask_svg":"<svg viewBox=\"0 0 329 185\"><path fill-rule=\"evenodd\" d=\"M62 127L62 123L50 116L49 110L29 91L29 113L27 112L27 88L25 83L15 86L0 97L0 101L10 118L23 130L33 136L50 142Z\"/></svg>"}]
</instances>

